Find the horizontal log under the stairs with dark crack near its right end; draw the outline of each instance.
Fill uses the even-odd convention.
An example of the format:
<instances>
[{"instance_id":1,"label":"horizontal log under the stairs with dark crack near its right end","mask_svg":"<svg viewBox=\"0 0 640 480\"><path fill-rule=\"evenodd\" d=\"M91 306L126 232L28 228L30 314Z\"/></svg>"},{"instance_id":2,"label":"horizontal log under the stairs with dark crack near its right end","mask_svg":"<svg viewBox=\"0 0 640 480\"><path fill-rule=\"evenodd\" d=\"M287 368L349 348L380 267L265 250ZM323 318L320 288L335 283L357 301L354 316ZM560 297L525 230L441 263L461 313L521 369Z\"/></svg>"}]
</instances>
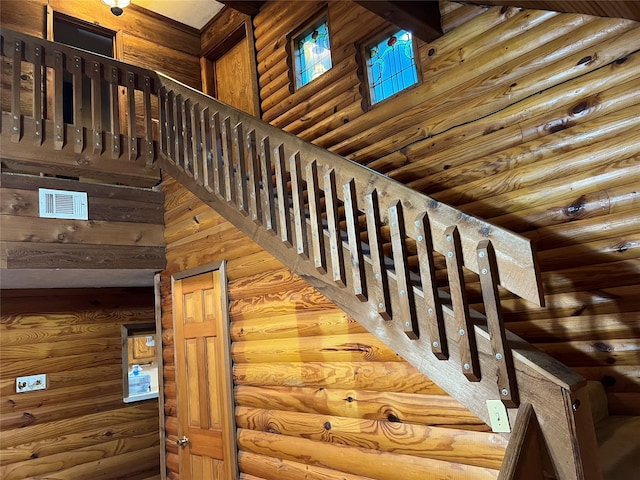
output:
<instances>
[{"instance_id":1,"label":"horizontal log under the stairs with dark crack near its right end","mask_svg":"<svg viewBox=\"0 0 640 480\"><path fill-rule=\"evenodd\" d=\"M397 354L370 333L279 338L235 342L234 363L257 362L393 362Z\"/></svg>"}]
</instances>

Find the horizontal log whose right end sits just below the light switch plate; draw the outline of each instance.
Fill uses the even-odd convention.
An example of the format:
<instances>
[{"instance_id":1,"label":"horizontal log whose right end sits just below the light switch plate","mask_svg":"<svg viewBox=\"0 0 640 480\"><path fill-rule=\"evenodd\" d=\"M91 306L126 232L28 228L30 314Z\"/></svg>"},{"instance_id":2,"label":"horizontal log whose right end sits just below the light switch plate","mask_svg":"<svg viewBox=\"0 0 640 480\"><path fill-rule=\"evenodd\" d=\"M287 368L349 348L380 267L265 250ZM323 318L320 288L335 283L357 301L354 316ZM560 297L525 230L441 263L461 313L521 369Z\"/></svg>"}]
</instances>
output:
<instances>
[{"instance_id":1,"label":"horizontal log whose right end sits just below the light switch plate","mask_svg":"<svg viewBox=\"0 0 640 480\"><path fill-rule=\"evenodd\" d=\"M507 440L493 433L246 407L239 428L499 469Z\"/></svg>"}]
</instances>

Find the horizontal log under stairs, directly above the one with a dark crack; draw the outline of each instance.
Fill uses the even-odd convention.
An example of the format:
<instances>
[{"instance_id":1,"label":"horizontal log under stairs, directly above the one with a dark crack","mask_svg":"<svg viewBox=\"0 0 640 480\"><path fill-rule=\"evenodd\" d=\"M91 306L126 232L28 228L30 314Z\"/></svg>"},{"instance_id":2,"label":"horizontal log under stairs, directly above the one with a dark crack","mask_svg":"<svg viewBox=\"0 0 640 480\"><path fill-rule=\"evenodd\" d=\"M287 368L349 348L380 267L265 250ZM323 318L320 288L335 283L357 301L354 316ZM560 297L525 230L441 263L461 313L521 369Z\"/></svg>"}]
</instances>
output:
<instances>
[{"instance_id":1,"label":"horizontal log under stairs, directly above the one with a dark crack","mask_svg":"<svg viewBox=\"0 0 640 480\"><path fill-rule=\"evenodd\" d=\"M269 322L256 318L234 320L231 324L231 340L234 342L364 332L366 332L364 327L341 311L320 314L300 312L272 317Z\"/></svg>"}]
</instances>

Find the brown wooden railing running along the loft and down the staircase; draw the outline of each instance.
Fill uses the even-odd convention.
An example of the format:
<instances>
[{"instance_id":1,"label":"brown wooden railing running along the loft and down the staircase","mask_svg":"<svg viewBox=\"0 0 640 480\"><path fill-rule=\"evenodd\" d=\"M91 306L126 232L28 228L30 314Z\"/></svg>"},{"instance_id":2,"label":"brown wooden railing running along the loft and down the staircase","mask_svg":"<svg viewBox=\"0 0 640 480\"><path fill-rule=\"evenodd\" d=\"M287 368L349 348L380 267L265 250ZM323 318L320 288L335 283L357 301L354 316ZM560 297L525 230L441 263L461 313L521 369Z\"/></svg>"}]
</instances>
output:
<instances>
[{"instance_id":1,"label":"brown wooden railing running along the loft and down the staircase","mask_svg":"<svg viewBox=\"0 0 640 480\"><path fill-rule=\"evenodd\" d=\"M134 184L162 167L487 423L487 400L512 424L531 404L558 478L600 478L584 379L502 322L500 289L543 302L529 240L162 74L8 30L2 57L3 161Z\"/></svg>"}]
</instances>

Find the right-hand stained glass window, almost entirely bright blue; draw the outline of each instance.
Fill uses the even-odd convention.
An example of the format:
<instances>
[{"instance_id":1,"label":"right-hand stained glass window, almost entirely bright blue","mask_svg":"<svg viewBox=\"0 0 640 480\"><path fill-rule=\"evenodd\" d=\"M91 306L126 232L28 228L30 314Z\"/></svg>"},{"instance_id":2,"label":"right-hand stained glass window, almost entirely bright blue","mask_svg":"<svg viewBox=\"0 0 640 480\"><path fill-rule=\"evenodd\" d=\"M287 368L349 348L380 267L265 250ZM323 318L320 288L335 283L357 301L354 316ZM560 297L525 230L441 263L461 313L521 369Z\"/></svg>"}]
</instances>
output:
<instances>
[{"instance_id":1,"label":"right-hand stained glass window, almost entirely bright blue","mask_svg":"<svg viewBox=\"0 0 640 480\"><path fill-rule=\"evenodd\" d=\"M411 33L400 30L366 49L371 104L418 82Z\"/></svg>"}]
</instances>

